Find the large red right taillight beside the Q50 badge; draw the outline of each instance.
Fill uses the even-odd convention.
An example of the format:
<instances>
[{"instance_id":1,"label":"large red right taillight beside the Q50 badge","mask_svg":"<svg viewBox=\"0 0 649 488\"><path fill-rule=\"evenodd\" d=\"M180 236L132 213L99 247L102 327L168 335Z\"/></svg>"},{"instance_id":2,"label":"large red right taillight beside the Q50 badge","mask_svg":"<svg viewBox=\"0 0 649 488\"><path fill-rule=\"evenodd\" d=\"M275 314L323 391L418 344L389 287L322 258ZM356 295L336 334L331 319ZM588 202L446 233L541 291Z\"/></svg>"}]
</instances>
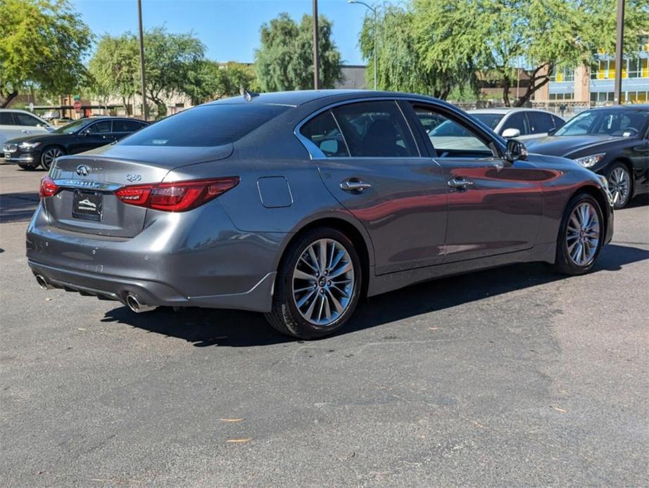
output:
<instances>
[{"instance_id":1,"label":"large red right taillight beside the Q50 badge","mask_svg":"<svg viewBox=\"0 0 649 488\"><path fill-rule=\"evenodd\" d=\"M203 205L239 184L239 176L124 186L115 195L124 203L167 212L184 212Z\"/></svg>"}]
</instances>

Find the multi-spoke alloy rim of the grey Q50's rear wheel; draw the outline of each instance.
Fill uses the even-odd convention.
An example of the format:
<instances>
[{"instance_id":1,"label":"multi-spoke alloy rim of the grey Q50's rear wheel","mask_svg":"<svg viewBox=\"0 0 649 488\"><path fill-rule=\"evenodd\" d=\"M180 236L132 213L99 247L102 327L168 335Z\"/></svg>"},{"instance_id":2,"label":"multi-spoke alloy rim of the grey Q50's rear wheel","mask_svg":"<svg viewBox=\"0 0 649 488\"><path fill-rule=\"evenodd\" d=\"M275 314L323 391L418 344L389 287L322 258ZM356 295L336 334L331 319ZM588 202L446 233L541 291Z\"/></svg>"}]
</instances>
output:
<instances>
[{"instance_id":1,"label":"multi-spoke alloy rim of the grey Q50's rear wheel","mask_svg":"<svg viewBox=\"0 0 649 488\"><path fill-rule=\"evenodd\" d=\"M303 319L329 326L344 314L354 290L349 252L334 239L319 239L303 250L295 265L293 298Z\"/></svg>"}]
</instances>

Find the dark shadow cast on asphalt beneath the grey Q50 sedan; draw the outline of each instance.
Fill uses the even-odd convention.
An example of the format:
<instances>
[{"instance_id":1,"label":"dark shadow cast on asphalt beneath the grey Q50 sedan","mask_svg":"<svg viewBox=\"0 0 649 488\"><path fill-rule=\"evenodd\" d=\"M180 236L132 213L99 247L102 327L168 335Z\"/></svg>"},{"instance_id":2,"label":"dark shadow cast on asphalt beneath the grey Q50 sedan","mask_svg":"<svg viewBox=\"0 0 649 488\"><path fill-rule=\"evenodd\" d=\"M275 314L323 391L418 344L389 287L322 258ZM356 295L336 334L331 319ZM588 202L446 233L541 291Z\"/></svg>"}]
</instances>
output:
<instances>
[{"instance_id":1,"label":"dark shadow cast on asphalt beneath the grey Q50 sedan","mask_svg":"<svg viewBox=\"0 0 649 488\"><path fill-rule=\"evenodd\" d=\"M625 264L645 259L649 259L648 250L607 245L593 273L618 271ZM412 285L361 303L341 334L563 279L567 277L553 274L545 264L527 263ZM102 321L181 338L196 347L251 347L294 341L276 333L261 314L234 310L192 308L172 312L161 308L134 314L120 307L106 312Z\"/></svg>"}]
</instances>

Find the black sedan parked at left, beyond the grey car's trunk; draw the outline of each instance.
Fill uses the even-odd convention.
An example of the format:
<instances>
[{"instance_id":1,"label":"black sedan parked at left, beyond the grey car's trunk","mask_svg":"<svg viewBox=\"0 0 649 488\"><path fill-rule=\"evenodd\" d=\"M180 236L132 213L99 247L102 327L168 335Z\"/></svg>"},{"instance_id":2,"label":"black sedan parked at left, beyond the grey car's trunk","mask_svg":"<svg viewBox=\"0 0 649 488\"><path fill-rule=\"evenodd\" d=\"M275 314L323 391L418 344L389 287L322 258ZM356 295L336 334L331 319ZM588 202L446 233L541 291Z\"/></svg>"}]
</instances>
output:
<instances>
[{"instance_id":1,"label":"black sedan parked at left, beyond the grey car's trunk","mask_svg":"<svg viewBox=\"0 0 649 488\"><path fill-rule=\"evenodd\" d=\"M23 169L39 165L49 169L65 154L82 153L106 146L148 125L144 120L122 117L89 117L75 120L49 134L20 137L4 143L4 160Z\"/></svg>"}]
</instances>

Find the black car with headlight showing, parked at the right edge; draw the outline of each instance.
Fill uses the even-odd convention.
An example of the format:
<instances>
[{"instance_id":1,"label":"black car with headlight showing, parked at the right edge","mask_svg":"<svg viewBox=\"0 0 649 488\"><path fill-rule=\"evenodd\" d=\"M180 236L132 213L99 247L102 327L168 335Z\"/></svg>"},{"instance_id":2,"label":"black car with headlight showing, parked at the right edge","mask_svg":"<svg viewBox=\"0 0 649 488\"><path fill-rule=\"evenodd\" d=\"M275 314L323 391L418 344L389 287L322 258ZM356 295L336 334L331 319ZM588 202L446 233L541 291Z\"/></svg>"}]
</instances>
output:
<instances>
[{"instance_id":1,"label":"black car with headlight showing, parked at the right edge","mask_svg":"<svg viewBox=\"0 0 649 488\"><path fill-rule=\"evenodd\" d=\"M605 175L616 209L649 192L649 105L587 110L549 134L529 142L529 151L563 156Z\"/></svg>"}]
</instances>

